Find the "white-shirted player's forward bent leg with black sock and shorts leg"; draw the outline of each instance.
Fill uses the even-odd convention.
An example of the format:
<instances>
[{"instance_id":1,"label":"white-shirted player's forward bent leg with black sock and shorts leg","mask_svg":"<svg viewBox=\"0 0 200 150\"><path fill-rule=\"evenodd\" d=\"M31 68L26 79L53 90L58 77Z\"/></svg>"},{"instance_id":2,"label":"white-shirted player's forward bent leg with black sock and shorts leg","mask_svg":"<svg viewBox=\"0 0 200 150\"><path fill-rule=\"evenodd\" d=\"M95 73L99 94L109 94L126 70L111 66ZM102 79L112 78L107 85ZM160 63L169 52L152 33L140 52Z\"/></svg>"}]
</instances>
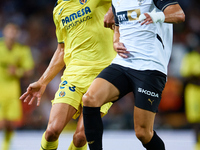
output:
<instances>
[{"instance_id":1,"label":"white-shirted player's forward bent leg with black sock and shorts leg","mask_svg":"<svg viewBox=\"0 0 200 150\"><path fill-rule=\"evenodd\" d=\"M124 76L123 67L110 65L98 75L83 96L83 120L90 150L102 149L103 123L100 106L121 98L129 90L129 81Z\"/></svg>"}]
</instances>

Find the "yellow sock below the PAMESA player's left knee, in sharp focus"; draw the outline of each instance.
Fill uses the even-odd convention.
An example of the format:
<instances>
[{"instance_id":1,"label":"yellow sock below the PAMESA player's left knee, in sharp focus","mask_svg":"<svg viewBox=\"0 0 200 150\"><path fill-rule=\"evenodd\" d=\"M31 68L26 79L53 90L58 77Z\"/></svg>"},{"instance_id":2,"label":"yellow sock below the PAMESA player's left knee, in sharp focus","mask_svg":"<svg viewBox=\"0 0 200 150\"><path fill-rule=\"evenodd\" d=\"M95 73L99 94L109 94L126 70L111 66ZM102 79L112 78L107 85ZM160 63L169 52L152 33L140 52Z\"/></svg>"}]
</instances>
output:
<instances>
[{"instance_id":1,"label":"yellow sock below the PAMESA player's left knee, in sharp focus","mask_svg":"<svg viewBox=\"0 0 200 150\"><path fill-rule=\"evenodd\" d=\"M58 148L58 140L56 140L54 142L48 142L45 139L45 132L44 132L44 134L42 136L40 150L56 150L57 148Z\"/></svg>"}]
</instances>

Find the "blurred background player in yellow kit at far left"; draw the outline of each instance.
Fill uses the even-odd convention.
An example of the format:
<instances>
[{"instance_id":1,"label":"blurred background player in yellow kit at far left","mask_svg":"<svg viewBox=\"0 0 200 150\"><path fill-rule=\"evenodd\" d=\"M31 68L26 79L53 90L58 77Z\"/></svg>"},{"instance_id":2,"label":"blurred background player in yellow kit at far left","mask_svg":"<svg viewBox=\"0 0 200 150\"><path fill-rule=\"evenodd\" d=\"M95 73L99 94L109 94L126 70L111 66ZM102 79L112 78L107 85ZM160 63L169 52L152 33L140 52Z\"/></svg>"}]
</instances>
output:
<instances>
[{"instance_id":1,"label":"blurred background player in yellow kit at far left","mask_svg":"<svg viewBox=\"0 0 200 150\"><path fill-rule=\"evenodd\" d=\"M0 39L0 129L5 131L1 150L8 150L16 121L22 119L20 78L30 74L33 59L30 48L16 42L19 27L9 23Z\"/></svg>"}]
</instances>

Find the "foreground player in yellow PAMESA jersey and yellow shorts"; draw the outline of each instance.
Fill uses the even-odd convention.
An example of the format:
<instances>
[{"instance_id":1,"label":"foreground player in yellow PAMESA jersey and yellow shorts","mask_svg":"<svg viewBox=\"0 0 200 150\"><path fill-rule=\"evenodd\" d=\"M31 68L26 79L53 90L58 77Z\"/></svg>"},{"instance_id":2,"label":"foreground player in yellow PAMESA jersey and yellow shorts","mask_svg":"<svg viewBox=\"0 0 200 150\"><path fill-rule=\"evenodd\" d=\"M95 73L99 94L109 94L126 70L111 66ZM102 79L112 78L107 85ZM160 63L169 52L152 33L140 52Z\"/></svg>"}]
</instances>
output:
<instances>
[{"instance_id":1,"label":"foreground player in yellow PAMESA jersey and yellow shorts","mask_svg":"<svg viewBox=\"0 0 200 150\"><path fill-rule=\"evenodd\" d=\"M116 56L112 46L113 31L104 27L104 15L110 6L111 0L58 0L56 3L53 17L57 50L41 78L30 84L20 98L30 105L37 99L39 105L47 84L65 67L59 89L52 101L41 150L57 149L63 128L78 116L69 150L87 150L81 113L82 96L99 72ZM108 22L105 22L105 26L111 28ZM102 115L107 113L111 105L108 103L102 106Z\"/></svg>"}]
</instances>

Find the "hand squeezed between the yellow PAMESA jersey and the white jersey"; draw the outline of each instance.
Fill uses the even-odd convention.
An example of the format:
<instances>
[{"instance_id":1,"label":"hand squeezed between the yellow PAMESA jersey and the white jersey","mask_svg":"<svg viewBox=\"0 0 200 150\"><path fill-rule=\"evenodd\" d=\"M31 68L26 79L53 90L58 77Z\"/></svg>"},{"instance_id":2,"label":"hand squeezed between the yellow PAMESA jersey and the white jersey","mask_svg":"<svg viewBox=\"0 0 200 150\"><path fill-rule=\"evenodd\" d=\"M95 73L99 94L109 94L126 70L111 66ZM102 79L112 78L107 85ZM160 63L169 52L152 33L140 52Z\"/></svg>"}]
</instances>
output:
<instances>
[{"instance_id":1,"label":"hand squeezed between the yellow PAMESA jersey and the white jersey","mask_svg":"<svg viewBox=\"0 0 200 150\"><path fill-rule=\"evenodd\" d=\"M110 7L108 12L104 16L104 27L110 28L112 30L114 30L115 28L115 20L112 12L112 7Z\"/></svg>"}]
</instances>

